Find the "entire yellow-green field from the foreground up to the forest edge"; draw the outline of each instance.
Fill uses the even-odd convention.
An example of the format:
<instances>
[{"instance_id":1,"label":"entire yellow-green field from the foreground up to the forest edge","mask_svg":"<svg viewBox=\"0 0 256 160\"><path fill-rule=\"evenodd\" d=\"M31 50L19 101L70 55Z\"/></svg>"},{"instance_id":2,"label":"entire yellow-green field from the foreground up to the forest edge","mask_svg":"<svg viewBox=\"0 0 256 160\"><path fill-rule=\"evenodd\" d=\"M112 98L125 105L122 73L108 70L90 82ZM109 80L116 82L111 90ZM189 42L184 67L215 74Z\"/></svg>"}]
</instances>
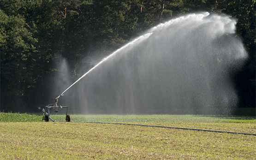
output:
<instances>
[{"instance_id":1,"label":"entire yellow-green field from the foreground up to the forest edge","mask_svg":"<svg viewBox=\"0 0 256 160\"><path fill-rule=\"evenodd\" d=\"M20 113L10 113L13 119L19 118L6 122L4 114L0 113L1 160L255 160L256 157L253 135L135 125L45 123L42 116ZM34 116L38 116L38 122L19 120L29 121ZM62 121L63 115L52 118ZM72 119L256 133L255 117L243 116L71 115Z\"/></svg>"}]
</instances>

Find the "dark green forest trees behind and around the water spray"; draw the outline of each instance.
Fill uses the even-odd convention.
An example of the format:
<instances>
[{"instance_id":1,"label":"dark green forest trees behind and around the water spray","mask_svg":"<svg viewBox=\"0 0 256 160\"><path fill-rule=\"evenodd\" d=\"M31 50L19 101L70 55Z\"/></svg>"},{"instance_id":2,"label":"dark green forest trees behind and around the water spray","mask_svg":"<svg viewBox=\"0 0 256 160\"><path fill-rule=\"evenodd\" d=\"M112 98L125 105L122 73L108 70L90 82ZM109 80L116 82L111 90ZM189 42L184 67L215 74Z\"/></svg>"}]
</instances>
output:
<instances>
[{"instance_id":1,"label":"dark green forest trees behind and around the water spray","mask_svg":"<svg viewBox=\"0 0 256 160\"><path fill-rule=\"evenodd\" d=\"M36 112L66 59L73 81L145 30L187 13L237 20L249 58L232 78L239 107L256 107L256 0L0 0L0 111ZM85 59L85 60L84 60Z\"/></svg>"}]
</instances>

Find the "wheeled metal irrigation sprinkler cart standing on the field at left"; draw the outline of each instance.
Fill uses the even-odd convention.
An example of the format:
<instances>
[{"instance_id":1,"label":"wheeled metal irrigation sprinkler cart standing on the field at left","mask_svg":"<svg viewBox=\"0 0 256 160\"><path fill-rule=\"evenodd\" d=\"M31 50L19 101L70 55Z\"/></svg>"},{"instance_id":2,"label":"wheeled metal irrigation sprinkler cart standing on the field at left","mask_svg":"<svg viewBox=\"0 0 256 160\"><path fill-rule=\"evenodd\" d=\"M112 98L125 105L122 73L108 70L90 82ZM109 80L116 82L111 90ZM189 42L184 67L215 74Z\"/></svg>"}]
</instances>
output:
<instances>
[{"instance_id":1,"label":"wheeled metal irrigation sprinkler cart standing on the field at left","mask_svg":"<svg viewBox=\"0 0 256 160\"><path fill-rule=\"evenodd\" d=\"M67 108L68 110L68 106L57 106L58 103L58 99L62 96L63 94L60 94L58 97L55 98L54 103L48 104L45 109L43 108L43 118L42 120L44 120L45 122L48 122L49 119L51 119L53 122L55 122L51 116L50 116L50 108L55 108L55 113L57 114L59 112L58 108L62 109L62 108ZM66 122L70 122L70 115L67 114L66 112Z\"/></svg>"}]
</instances>

